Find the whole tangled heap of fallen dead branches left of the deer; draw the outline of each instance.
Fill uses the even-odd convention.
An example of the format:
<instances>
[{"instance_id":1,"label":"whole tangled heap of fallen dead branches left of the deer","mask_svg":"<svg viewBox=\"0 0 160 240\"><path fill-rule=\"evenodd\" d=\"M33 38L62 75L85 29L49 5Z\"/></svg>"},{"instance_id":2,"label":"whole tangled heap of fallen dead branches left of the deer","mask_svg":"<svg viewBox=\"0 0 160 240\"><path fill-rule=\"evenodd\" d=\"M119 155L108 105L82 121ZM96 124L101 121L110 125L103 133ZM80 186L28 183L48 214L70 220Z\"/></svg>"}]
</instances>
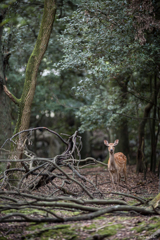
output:
<instances>
[{"instance_id":1,"label":"whole tangled heap of fallen dead branches left of the deer","mask_svg":"<svg viewBox=\"0 0 160 240\"><path fill-rule=\"evenodd\" d=\"M47 128L38 127L24 131L30 132L37 129ZM112 199L104 199L103 189L105 190L105 185L102 191L100 191L99 186L97 187L95 184L98 180L94 179L93 181L95 182L92 182L87 175L84 176L83 172L80 171L80 162L83 162L84 165L86 165L88 160L91 163L102 163L90 157L81 160L79 147L77 146L78 132L76 131L65 141L54 131L50 129L48 131L57 135L66 145L66 150L62 154L50 159L35 157L34 159L2 160L3 162L10 162L11 165L0 177L2 189L0 191L1 223L13 221L61 223L90 220L106 213L113 214L116 212L119 214L124 212L128 214L133 211L142 215L159 215L156 209L146 207L148 202L145 199L136 195L123 192L109 192L107 194L111 194ZM12 136L9 141L14 142L16 136L17 134ZM78 156L79 159L75 159L75 156ZM37 161L41 162L41 164L29 169L27 164L29 161ZM23 168L12 168L12 162L21 162ZM103 165L107 166L107 164ZM8 175L18 171L22 173L22 176L16 179L18 182L16 187L10 187L14 191L6 191L5 184L10 184ZM98 177L103 178L106 172L101 172ZM42 188L43 186L45 190ZM46 189L49 190L47 191ZM126 199L132 198L142 206L131 205L127 200L113 199L113 194L123 196ZM24 210L25 212L25 209L27 209L27 214L22 214L21 211ZM35 210L35 215L33 215L32 209ZM12 213L8 214L6 210L7 212L11 210ZM71 212L73 212L73 215L69 214Z\"/></svg>"}]
</instances>

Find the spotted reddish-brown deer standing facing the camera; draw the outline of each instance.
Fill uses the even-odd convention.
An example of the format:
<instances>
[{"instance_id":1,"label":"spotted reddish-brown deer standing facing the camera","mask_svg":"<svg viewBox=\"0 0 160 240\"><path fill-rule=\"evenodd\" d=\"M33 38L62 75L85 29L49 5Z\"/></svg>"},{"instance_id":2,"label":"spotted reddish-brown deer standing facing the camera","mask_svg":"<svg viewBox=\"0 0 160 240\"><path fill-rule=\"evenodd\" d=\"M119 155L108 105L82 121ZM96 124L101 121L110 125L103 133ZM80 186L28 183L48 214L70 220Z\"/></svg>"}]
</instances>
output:
<instances>
[{"instance_id":1,"label":"spotted reddish-brown deer standing facing the camera","mask_svg":"<svg viewBox=\"0 0 160 240\"><path fill-rule=\"evenodd\" d=\"M107 140L104 140L104 144L108 147L108 151L109 151L108 170L111 177L112 187L114 187L115 189L116 187L114 184L114 176L116 176L117 182L119 185L121 173L124 174L125 182L127 184L127 173L126 173L127 158L121 152L114 154L115 146L118 143L119 143L118 139L115 140L114 143L108 143Z\"/></svg>"}]
</instances>

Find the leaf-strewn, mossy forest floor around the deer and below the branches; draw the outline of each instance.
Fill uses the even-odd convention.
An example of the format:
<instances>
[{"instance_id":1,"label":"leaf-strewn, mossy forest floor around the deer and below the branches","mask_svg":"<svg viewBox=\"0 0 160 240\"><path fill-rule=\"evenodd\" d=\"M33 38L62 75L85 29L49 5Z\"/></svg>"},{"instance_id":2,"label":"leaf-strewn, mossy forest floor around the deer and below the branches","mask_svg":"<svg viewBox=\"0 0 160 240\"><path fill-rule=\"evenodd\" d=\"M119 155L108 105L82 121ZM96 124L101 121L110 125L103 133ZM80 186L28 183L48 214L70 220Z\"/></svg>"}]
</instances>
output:
<instances>
[{"instance_id":1,"label":"leaf-strewn, mossy forest floor around the deer and below the branches","mask_svg":"<svg viewBox=\"0 0 160 240\"><path fill-rule=\"evenodd\" d=\"M150 172L144 180L143 174L136 174L135 166L128 166L128 186L130 192L122 183L120 192L152 199L158 194L158 177ZM125 196L115 196L111 193L112 186L109 173L103 166L81 169L81 174L92 180L103 193L104 198L126 200ZM48 191L43 187L41 191ZM133 201L133 199L130 199ZM128 199L127 199L128 202ZM116 212L105 214L93 220L53 223L1 223L0 240L98 240L98 239L125 239L125 240L158 240L160 237L151 237L160 229L160 216L141 215L136 212Z\"/></svg>"}]
</instances>

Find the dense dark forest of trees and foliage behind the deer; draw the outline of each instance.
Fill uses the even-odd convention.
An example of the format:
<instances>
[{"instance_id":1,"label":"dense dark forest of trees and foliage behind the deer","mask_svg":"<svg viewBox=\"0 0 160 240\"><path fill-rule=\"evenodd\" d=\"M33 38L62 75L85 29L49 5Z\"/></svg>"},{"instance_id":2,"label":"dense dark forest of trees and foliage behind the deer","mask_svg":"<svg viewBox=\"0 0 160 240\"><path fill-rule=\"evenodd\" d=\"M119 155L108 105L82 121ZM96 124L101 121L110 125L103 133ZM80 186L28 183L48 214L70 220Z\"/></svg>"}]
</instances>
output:
<instances>
[{"instance_id":1,"label":"dense dark forest of trees and foliage behind the deer","mask_svg":"<svg viewBox=\"0 0 160 240\"><path fill-rule=\"evenodd\" d=\"M0 145L25 128L45 126L68 135L78 130L82 158L105 160L104 138L118 138L116 150L136 162L137 172L148 167L155 172L160 159L159 1L53 2L48 47L32 69L34 63L27 64L44 2L1 1ZM29 71L37 79L22 126ZM43 130L32 142L28 148L40 157L62 151L58 139Z\"/></svg>"}]
</instances>

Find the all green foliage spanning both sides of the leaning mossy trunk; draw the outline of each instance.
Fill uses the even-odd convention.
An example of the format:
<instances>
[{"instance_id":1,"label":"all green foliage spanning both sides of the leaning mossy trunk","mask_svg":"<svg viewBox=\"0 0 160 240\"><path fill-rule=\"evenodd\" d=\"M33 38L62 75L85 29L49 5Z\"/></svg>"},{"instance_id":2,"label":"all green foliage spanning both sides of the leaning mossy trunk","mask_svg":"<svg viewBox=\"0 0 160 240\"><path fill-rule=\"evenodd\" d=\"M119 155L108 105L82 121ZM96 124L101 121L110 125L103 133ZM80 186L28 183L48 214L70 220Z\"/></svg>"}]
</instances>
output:
<instances>
[{"instance_id":1,"label":"all green foliage spanning both sides of the leaning mossy trunk","mask_svg":"<svg viewBox=\"0 0 160 240\"><path fill-rule=\"evenodd\" d=\"M118 129L127 117L130 136L135 138L160 61L158 28L145 31L142 45L135 39L135 12L127 1L57 4L56 21L38 74L31 124L37 116L40 119L53 112L61 116L53 127L66 127L66 119L76 115L76 127L84 132L111 126ZM30 0L13 1L7 11L3 36L5 51L11 51L7 85L17 97L42 10L43 1ZM12 112L17 114L15 108Z\"/></svg>"}]
</instances>

